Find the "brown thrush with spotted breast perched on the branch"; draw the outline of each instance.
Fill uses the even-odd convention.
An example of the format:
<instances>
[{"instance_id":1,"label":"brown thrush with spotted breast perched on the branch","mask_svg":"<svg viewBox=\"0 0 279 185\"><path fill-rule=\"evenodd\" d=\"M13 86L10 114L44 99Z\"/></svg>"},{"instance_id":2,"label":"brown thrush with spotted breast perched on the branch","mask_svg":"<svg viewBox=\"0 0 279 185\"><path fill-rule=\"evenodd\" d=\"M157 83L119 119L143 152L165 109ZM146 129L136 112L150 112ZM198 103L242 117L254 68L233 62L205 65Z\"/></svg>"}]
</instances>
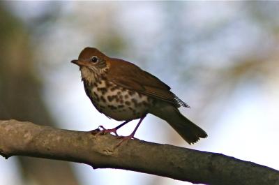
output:
<instances>
[{"instance_id":1,"label":"brown thrush with spotted breast perched on the branch","mask_svg":"<svg viewBox=\"0 0 279 185\"><path fill-rule=\"evenodd\" d=\"M133 133L123 140L134 138L140 123L150 113L167 121L189 144L206 138L206 132L178 110L180 106L189 106L167 84L135 64L107 57L93 47L84 48L78 60L71 62L80 66L84 89L95 108L107 117L125 121L116 128L104 128L102 133L116 133L129 121L140 119Z\"/></svg>"}]
</instances>

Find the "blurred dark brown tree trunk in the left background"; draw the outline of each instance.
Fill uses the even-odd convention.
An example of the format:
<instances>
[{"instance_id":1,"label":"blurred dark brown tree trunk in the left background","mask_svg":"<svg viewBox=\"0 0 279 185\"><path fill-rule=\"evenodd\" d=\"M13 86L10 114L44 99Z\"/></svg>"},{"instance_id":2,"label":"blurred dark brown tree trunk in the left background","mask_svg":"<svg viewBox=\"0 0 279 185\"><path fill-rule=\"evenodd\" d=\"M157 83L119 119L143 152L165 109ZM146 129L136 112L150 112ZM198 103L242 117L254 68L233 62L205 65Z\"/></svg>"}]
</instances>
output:
<instances>
[{"instance_id":1,"label":"blurred dark brown tree trunk in the left background","mask_svg":"<svg viewBox=\"0 0 279 185\"><path fill-rule=\"evenodd\" d=\"M0 118L54 126L42 100L27 31L22 22L5 10L3 3L0 24ZM20 165L25 184L78 184L67 162L25 157L20 158Z\"/></svg>"}]
</instances>

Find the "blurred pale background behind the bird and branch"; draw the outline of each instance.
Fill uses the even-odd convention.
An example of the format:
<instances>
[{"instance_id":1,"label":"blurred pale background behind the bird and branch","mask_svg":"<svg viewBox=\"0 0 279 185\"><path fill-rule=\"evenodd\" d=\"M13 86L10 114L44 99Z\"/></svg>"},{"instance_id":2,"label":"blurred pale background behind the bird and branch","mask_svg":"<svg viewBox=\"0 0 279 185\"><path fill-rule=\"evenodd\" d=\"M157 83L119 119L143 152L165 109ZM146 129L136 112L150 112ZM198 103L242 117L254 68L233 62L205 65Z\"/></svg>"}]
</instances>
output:
<instances>
[{"instance_id":1,"label":"blurred pale background behind the bird and branch","mask_svg":"<svg viewBox=\"0 0 279 185\"><path fill-rule=\"evenodd\" d=\"M181 111L209 133L191 148L279 169L278 17L276 1L1 1L0 119L114 127L70 64L84 47L97 47L158 76L191 106ZM189 147L153 116L136 137ZM0 158L0 169L3 185L181 184L35 158Z\"/></svg>"}]
</instances>

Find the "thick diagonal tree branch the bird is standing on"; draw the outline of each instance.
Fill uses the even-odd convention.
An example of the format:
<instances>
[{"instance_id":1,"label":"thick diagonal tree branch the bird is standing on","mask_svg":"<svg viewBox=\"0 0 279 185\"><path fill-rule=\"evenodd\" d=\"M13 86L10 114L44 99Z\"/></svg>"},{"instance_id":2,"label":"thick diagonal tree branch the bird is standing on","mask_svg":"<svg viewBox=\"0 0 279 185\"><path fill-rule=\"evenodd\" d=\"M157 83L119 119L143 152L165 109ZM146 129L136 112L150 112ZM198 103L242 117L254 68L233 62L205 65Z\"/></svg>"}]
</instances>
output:
<instances>
[{"instance_id":1,"label":"thick diagonal tree branch the bird is standing on","mask_svg":"<svg viewBox=\"0 0 279 185\"><path fill-rule=\"evenodd\" d=\"M97 131L96 131L97 132ZM170 177L195 184L279 184L279 172L263 165L206 151L142 140L119 142L113 135L67 131L16 120L0 121L0 154L86 163Z\"/></svg>"}]
</instances>

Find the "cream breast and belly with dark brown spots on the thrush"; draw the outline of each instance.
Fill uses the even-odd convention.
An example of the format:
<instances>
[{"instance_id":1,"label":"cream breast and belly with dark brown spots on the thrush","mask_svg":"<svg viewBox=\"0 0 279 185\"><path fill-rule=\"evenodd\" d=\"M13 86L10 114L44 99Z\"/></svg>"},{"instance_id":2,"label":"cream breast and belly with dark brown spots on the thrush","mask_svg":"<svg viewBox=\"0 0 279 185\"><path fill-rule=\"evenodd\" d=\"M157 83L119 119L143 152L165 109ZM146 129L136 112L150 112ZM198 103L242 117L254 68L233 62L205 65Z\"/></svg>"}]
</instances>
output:
<instances>
[{"instance_id":1,"label":"cream breast and belly with dark brown spots on the thrush","mask_svg":"<svg viewBox=\"0 0 279 185\"><path fill-rule=\"evenodd\" d=\"M118 121L139 119L153 105L153 98L119 87L108 81L105 75L93 76L87 68L81 68L81 71L87 96L95 108L107 117Z\"/></svg>"}]
</instances>

